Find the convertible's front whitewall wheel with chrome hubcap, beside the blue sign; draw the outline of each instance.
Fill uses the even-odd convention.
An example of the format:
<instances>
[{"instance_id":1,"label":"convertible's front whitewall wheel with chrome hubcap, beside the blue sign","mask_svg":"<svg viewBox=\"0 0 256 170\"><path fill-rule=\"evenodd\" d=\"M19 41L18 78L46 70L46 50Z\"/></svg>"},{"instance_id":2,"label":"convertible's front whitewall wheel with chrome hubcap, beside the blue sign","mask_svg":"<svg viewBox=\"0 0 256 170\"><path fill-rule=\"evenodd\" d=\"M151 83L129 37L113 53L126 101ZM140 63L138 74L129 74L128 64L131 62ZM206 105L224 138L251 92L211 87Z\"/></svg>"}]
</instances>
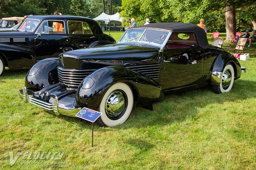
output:
<instances>
[{"instance_id":1,"label":"convertible's front whitewall wheel with chrome hubcap, beside the blue sign","mask_svg":"<svg viewBox=\"0 0 256 170\"><path fill-rule=\"evenodd\" d=\"M97 120L100 126L116 126L130 116L134 97L131 88L122 82L112 85L103 96L99 106L102 115Z\"/></svg>"}]
</instances>

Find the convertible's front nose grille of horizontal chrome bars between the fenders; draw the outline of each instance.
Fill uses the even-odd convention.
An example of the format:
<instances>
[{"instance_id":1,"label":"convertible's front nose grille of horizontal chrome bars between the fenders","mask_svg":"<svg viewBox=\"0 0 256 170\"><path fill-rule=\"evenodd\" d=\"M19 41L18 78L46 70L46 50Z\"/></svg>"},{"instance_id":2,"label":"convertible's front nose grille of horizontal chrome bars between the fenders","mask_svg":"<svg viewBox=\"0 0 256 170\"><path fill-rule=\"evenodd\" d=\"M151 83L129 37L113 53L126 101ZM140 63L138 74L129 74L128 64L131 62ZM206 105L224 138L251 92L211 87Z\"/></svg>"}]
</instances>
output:
<instances>
[{"instance_id":1,"label":"convertible's front nose grille of horizontal chrome bars between the fenders","mask_svg":"<svg viewBox=\"0 0 256 170\"><path fill-rule=\"evenodd\" d=\"M58 67L58 79L69 88L78 88L85 77L96 69L75 70Z\"/></svg>"}]
</instances>

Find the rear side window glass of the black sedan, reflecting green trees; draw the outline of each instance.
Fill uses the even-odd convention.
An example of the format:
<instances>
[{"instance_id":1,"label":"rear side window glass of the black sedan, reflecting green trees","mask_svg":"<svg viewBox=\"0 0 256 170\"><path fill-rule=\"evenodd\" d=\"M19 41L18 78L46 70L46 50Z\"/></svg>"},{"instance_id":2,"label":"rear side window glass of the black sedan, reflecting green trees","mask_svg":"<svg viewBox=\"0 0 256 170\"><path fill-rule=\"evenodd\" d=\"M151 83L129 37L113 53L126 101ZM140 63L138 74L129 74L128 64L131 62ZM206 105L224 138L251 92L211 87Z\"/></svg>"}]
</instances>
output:
<instances>
[{"instance_id":1,"label":"rear side window glass of the black sedan, reflecting green trees","mask_svg":"<svg viewBox=\"0 0 256 170\"><path fill-rule=\"evenodd\" d=\"M68 21L67 25L69 34L93 34L86 22Z\"/></svg>"}]
</instances>

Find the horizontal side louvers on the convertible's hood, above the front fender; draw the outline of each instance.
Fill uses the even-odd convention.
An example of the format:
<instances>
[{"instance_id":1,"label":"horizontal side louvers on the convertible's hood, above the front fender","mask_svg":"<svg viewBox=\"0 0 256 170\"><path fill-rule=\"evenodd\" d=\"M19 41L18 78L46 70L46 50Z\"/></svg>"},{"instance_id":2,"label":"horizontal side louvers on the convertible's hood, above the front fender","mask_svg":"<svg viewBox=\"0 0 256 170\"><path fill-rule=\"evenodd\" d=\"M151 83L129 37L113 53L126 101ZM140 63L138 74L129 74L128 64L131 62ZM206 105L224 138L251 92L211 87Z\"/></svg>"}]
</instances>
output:
<instances>
[{"instance_id":1,"label":"horizontal side louvers on the convertible's hood, above the front fender","mask_svg":"<svg viewBox=\"0 0 256 170\"><path fill-rule=\"evenodd\" d=\"M159 78L160 64L134 65L134 66L126 66L126 68L137 71L141 74L145 74L151 79Z\"/></svg>"}]
</instances>

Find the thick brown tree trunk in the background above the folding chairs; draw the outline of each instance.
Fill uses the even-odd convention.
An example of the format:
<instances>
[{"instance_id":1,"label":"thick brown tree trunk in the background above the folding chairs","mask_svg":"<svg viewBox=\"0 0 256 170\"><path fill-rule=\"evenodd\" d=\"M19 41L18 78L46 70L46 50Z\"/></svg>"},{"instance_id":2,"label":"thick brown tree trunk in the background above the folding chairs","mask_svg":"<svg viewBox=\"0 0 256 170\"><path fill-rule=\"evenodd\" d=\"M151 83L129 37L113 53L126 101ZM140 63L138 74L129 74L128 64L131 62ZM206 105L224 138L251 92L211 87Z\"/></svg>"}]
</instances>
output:
<instances>
[{"instance_id":1,"label":"thick brown tree trunk in the background above the folding chairs","mask_svg":"<svg viewBox=\"0 0 256 170\"><path fill-rule=\"evenodd\" d=\"M225 42L232 42L233 36L236 35L236 9L234 5L226 6L226 29L227 37Z\"/></svg>"}]
</instances>

